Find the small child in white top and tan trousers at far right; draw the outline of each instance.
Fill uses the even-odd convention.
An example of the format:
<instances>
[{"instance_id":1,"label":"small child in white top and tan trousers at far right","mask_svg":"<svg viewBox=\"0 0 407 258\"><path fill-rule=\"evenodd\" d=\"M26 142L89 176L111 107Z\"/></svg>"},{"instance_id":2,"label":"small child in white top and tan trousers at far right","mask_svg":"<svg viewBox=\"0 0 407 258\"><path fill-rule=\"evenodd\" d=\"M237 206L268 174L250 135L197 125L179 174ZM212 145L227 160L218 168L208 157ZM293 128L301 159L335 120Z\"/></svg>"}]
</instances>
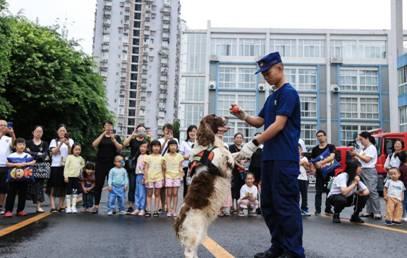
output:
<instances>
[{"instance_id":1,"label":"small child in white top and tan trousers at far right","mask_svg":"<svg viewBox=\"0 0 407 258\"><path fill-rule=\"evenodd\" d=\"M391 180L387 180L384 185L384 200L386 201L386 225L400 225L403 215L404 187L399 180L400 171L397 168L389 169Z\"/></svg>"}]
</instances>

